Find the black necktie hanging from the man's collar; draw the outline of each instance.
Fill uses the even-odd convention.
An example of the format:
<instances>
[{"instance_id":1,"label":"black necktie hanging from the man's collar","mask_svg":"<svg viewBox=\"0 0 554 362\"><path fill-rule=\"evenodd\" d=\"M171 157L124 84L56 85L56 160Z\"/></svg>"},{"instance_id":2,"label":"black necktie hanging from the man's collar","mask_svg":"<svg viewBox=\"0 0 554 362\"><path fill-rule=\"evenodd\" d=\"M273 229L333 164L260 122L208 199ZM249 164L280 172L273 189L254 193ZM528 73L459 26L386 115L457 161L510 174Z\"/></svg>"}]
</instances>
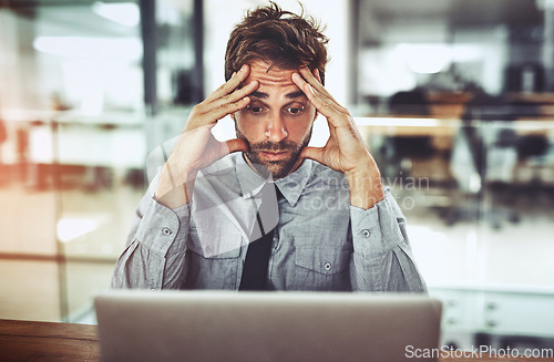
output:
<instances>
[{"instance_id":1,"label":"black necktie hanging from the man's collar","mask_svg":"<svg viewBox=\"0 0 554 362\"><path fill-rule=\"evenodd\" d=\"M259 226L261 237L250 241L248 246L239 290L265 289L274 231L279 221L276 192L280 194L274 184L267 183L259 193L261 195L261 204L256 213L256 223ZM266 229L269 230L266 231Z\"/></svg>"}]
</instances>

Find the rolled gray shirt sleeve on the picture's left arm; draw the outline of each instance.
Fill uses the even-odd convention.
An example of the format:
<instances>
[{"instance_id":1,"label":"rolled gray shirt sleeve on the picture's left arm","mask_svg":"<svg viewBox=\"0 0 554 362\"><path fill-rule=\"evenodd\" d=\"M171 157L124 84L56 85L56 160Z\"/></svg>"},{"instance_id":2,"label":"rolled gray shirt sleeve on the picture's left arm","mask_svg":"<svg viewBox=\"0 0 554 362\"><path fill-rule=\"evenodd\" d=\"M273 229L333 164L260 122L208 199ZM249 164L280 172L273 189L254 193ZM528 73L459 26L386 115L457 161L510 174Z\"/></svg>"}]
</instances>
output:
<instances>
[{"instance_id":1,"label":"rolled gray shirt sleeve on the picture's left arm","mask_svg":"<svg viewBox=\"0 0 554 362\"><path fill-rule=\"evenodd\" d=\"M185 278L189 205L170 209L153 197L153 182L141 200L115 263L111 288L178 289Z\"/></svg>"}]
</instances>

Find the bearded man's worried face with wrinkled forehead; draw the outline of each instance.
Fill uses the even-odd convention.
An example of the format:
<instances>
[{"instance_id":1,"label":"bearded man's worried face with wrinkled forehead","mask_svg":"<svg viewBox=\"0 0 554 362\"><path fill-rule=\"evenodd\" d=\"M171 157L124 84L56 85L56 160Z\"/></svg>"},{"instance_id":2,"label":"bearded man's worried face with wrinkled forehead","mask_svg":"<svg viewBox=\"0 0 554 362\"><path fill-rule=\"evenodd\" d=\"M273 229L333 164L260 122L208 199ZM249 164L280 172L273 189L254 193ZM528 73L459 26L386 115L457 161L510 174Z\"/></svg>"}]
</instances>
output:
<instances>
[{"instance_id":1,"label":"bearded man's worried face with wrinkled forehead","mask_svg":"<svg viewBox=\"0 0 554 362\"><path fill-rule=\"evenodd\" d=\"M296 70L269 69L265 62L250 64L244 82L258 81L250 104L232 117L237 137L246 141L247 161L263 175L281 178L294 170L300 151L311 137L316 108L293 82Z\"/></svg>"}]
</instances>

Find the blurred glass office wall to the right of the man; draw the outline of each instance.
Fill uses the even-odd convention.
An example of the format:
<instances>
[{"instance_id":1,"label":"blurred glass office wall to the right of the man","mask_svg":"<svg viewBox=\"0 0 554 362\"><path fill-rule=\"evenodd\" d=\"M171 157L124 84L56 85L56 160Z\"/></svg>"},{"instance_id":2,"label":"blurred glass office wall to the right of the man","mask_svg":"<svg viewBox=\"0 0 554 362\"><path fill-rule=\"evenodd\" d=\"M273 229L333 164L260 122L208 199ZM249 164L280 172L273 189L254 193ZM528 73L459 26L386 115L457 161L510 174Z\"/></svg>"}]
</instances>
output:
<instances>
[{"instance_id":1,"label":"blurred glass office wall to the right of the man","mask_svg":"<svg viewBox=\"0 0 554 362\"><path fill-rule=\"evenodd\" d=\"M444 302L442 343L552 347L552 4L359 7L356 112Z\"/></svg>"}]
</instances>

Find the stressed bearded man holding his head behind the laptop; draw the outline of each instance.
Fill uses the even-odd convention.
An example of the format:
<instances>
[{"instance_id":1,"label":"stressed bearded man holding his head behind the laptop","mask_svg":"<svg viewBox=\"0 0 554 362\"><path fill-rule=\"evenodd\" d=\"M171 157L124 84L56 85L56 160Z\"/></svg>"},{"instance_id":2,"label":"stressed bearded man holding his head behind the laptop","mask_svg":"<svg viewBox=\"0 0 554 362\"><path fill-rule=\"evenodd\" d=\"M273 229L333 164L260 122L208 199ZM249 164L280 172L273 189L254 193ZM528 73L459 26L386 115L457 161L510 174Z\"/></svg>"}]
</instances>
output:
<instances>
[{"instance_id":1,"label":"stressed bearded man holding his head behind the laptop","mask_svg":"<svg viewBox=\"0 0 554 362\"><path fill-rule=\"evenodd\" d=\"M425 291L404 217L324 87L326 43L275 3L235 27L226 83L141 201L112 288ZM318 114L330 137L310 147ZM226 115L237 138L222 143L211 128Z\"/></svg>"}]
</instances>

